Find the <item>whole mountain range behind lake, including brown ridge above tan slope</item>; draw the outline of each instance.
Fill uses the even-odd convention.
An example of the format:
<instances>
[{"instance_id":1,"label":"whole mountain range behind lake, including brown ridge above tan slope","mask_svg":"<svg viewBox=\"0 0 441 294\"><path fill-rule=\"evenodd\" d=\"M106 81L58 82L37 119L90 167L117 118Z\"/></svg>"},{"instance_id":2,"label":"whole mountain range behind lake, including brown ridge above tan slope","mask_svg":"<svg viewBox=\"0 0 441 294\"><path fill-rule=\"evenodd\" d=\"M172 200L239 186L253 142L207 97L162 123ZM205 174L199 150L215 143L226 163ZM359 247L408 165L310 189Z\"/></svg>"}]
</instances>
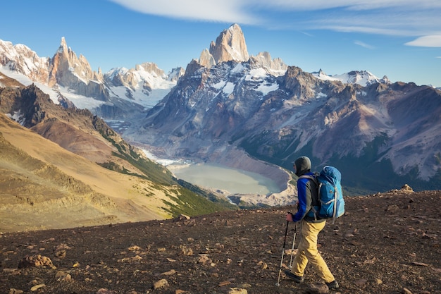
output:
<instances>
[{"instance_id":1,"label":"whole mountain range behind lake, including brown ridge above tan slope","mask_svg":"<svg viewBox=\"0 0 441 294\"><path fill-rule=\"evenodd\" d=\"M368 71L306 73L268 52L250 56L236 24L185 70L167 74L154 63L92 71L64 38L52 58L0 41L0 63L2 88L41 90L39 97L46 94L42 99L51 104L39 109L41 104L12 99L5 107L3 90L1 112L101 165L121 152L119 142L163 158L223 164L275 180L281 193L256 195L269 204L294 191L287 170L301 155L311 157L316 170L337 166L353 194L404 183L415 190L441 188L440 90ZM104 133L92 123L98 121ZM78 130L82 135L75 135Z\"/></svg>"}]
</instances>

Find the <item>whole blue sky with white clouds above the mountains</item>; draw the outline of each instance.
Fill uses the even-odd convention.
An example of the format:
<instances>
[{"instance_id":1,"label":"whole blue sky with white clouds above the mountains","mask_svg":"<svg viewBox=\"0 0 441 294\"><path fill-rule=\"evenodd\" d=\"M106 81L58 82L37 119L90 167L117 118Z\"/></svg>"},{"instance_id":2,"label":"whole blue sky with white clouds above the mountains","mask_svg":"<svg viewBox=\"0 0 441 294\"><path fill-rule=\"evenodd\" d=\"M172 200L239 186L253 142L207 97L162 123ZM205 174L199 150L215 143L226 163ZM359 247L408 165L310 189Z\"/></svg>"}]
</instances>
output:
<instances>
[{"instance_id":1,"label":"whole blue sky with white clouds above the mountains","mask_svg":"<svg viewBox=\"0 0 441 294\"><path fill-rule=\"evenodd\" d=\"M441 87L440 0L14 0L1 3L0 39L52 57L65 37L94 71L154 62L167 73L232 23L251 55Z\"/></svg>"}]
</instances>

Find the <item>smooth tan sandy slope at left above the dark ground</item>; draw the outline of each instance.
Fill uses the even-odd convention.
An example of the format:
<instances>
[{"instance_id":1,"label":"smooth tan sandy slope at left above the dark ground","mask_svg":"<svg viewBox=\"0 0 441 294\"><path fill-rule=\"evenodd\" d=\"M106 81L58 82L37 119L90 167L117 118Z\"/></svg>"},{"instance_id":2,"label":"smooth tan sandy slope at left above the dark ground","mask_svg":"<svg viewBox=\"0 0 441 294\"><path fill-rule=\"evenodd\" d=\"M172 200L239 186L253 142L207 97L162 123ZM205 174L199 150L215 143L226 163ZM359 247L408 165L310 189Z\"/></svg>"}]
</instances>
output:
<instances>
[{"instance_id":1,"label":"smooth tan sandy slope at left above the dark ground","mask_svg":"<svg viewBox=\"0 0 441 294\"><path fill-rule=\"evenodd\" d=\"M68 152L0 114L0 232L168 218L161 199L173 201L154 187Z\"/></svg>"}]
</instances>

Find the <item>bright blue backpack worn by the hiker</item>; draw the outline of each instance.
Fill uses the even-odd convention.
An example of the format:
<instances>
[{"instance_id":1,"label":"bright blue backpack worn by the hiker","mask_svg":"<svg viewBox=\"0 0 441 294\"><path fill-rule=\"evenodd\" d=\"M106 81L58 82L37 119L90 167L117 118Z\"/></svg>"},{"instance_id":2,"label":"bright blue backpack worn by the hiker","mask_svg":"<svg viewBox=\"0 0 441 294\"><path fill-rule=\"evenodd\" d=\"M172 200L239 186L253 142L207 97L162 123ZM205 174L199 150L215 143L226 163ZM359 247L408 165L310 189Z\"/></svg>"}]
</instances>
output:
<instances>
[{"instance_id":1,"label":"bright blue backpack worn by the hiker","mask_svg":"<svg viewBox=\"0 0 441 294\"><path fill-rule=\"evenodd\" d=\"M333 166L325 166L318 175L301 176L310 178L318 187L319 206L313 206L309 214L314 219L333 219L344 214L344 199L342 193L342 174Z\"/></svg>"}]
</instances>

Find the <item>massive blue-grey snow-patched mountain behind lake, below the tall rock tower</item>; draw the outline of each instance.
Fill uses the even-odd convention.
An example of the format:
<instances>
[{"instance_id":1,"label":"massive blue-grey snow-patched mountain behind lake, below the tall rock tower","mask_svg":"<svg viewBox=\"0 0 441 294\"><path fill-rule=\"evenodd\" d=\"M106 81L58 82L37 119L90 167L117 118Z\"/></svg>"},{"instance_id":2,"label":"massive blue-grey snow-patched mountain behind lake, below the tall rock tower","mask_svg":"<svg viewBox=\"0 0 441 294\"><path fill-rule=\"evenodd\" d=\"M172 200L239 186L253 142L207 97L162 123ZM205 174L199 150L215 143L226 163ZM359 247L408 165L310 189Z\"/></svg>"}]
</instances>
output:
<instances>
[{"instance_id":1,"label":"massive blue-grey snow-patched mountain behind lake, below the tall rock tower","mask_svg":"<svg viewBox=\"0 0 441 294\"><path fill-rule=\"evenodd\" d=\"M253 59L192 61L125 136L166 157L259 173L250 156L290 169L306 154L316 167L338 166L352 187L440 188L441 92L366 71L324 77L294 66L276 76Z\"/></svg>"}]
</instances>

